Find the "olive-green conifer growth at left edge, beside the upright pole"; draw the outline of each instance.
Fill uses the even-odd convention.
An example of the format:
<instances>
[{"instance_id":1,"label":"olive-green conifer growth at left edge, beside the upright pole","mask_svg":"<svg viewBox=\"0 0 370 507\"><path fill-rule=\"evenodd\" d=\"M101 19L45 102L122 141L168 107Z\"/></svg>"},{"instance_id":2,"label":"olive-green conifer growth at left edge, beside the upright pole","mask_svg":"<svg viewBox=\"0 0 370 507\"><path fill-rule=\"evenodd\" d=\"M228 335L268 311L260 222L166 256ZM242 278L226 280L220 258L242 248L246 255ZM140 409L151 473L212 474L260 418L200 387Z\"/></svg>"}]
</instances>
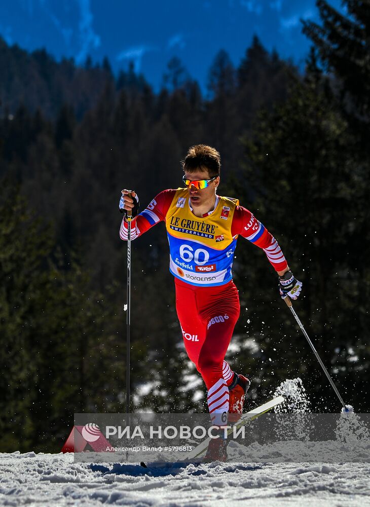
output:
<instances>
[{"instance_id":1,"label":"olive-green conifer growth at left edge, beside the upright pole","mask_svg":"<svg viewBox=\"0 0 370 507\"><path fill-rule=\"evenodd\" d=\"M0 189L0 446L55 452L73 412L120 410L122 333L115 305L57 255L51 225L11 180Z\"/></svg>"}]
</instances>

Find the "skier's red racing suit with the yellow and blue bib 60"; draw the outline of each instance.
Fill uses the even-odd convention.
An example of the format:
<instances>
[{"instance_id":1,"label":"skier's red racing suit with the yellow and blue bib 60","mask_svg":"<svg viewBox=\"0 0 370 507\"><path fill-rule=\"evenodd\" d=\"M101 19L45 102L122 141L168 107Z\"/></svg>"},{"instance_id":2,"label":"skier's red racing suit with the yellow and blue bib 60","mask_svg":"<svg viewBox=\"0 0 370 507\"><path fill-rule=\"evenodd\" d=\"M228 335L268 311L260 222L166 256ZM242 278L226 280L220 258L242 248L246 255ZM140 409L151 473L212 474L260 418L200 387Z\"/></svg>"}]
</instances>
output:
<instances>
[{"instance_id":1,"label":"skier's red racing suit with the yellow and blue bib 60","mask_svg":"<svg viewBox=\"0 0 370 507\"><path fill-rule=\"evenodd\" d=\"M224 358L240 313L231 271L238 236L262 248L276 271L287 263L277 241L236 199L216 196L214 209L199 218L187 189L164 190L132 220L131 239L162 221L184 344L207 386L212 417L228 411L234 376ZM127 240L125 220L120 237Z\"/></svg>"}]
</instances>

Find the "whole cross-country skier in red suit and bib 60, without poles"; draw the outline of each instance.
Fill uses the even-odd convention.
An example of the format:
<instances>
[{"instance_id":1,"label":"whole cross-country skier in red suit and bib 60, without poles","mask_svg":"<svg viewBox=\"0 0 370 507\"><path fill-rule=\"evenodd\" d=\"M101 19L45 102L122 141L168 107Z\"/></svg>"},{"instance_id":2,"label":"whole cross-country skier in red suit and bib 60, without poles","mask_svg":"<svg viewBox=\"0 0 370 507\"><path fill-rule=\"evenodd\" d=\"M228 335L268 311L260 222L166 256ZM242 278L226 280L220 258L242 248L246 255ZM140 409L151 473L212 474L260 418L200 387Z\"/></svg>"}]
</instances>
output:
<instances>
[{"instance_id":1,"label":"whole cross-country skier in red suit and bib 60, without poles","mask_svg":"<svg viewBox=\"0 0 370 507\"><path fill-rule=\"evenodd\" d=\"M279 275L279 292L297 299L302 283L288 268L277 241L239 200L216 194L220 155L209 146L189 149L182 161L184 187L164 190L138 214L134 191L123 190L125 216L120 237L127 240L127 210L132 211L131 239L161 221L170 247L170 271L175 277L176 311L188 356L207 386L207 403L216 426L237 421L249 380L225 361L240 313L232 264L238 236L262 248ZM226 460L227 443L212 440L206 460Z\"/></svg>"}]
</instances>

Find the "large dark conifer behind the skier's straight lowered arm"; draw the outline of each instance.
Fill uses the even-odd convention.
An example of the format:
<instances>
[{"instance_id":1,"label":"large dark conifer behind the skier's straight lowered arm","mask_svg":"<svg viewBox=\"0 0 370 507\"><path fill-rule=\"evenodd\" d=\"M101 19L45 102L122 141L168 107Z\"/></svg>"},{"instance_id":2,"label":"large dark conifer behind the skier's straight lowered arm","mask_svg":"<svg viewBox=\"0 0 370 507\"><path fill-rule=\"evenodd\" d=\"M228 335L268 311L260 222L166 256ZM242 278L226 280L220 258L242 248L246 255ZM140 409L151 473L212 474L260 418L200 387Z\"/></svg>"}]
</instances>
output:
<instances>
[{"instance_id":1,"label":"large dark conifer behind the skier's straight lowered arm","mask_svg":"<svg viewBox=\"0 0 370 507\"><path fill-rule=\"evenodd\" d=\"M362 267L353 258L353 243L364 226L364 214L358 213L366 201L361 187L368 188L353 156L354 143L312 53L305 80L297 81L289 99L272 113L265 111L253 139L245 140L241 203L275 235L291 270L303 281L297 305L324 363L340 376L342 392L348 389L350 399L367 409L361 388L356 392L352 387L356 372L361 372L362 382L366 376L367 331L358 301L362 291L369 291ZM306 387L316 392L316 407L324 409L322 372L278 297L277 281L263 264L266 260L250 248L237 252L236 271L242 306L248 308L249 328L262 353L258 363L264 379L267 374L269 383L272 370L275 381L280 375L282 380L287 374L302 375ZM254 314L249 313L252 305ZM361 362L351 362L351 355L360 354Z\"/></svg>"}]
</instances>

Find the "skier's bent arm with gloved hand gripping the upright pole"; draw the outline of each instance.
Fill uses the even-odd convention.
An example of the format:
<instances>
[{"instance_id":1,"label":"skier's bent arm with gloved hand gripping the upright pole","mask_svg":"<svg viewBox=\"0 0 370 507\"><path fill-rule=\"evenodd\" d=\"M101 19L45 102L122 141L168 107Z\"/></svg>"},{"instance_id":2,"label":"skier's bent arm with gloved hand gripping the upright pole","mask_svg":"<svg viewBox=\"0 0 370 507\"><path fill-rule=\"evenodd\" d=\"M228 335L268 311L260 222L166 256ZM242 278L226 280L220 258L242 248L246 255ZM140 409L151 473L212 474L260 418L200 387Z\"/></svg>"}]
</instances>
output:
<instances>
[{"instance_id":1,"label":"skier's bent arm with gloved hand gripping the upright pole","mask_svg":"<svg viewBox=\"0 0 370 507\"><path fill-rule=\"evenodd\" d=\"M141 213L138 213L139 200L136 192L126 189L122 190L120 209L126 211L129 209L132 210L131 239L138 238L151 227L165 220L166 213L171 205L175 192L176 191L172 189L163 190L163 192L158 194ZM120 238L124 241L127 240L126 213L121 223Z\"/></svg>"}]
</instances>

